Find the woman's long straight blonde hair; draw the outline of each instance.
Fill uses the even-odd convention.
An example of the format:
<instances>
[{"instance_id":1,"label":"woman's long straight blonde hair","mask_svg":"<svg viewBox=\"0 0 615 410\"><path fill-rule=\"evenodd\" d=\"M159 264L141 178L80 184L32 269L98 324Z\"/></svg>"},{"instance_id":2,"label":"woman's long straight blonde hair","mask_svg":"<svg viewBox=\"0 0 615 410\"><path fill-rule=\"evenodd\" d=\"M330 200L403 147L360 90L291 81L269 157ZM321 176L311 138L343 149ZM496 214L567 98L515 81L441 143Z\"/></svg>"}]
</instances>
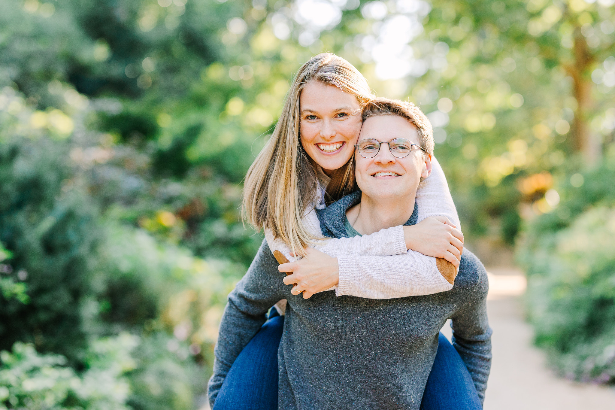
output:
<instances>
[{"instance_id":1,"label":"woman's long straight blonde hair","mask_svg":"<svg viewBox=\"0 0 615 410\"><path fill-rule=\"evenodd\" d=\"M304 254L304 248L319 239L301 221L317 183L314 165L300 138L299 101L311 81L335 85L354 95L361 107L373 98L367 81L351 63L331 53L312 57L293 79L273 135L245 176L243 218L256 229L271 229L274 237L296 254ZM352 159L336 170L330 186L328 200L354 190Z\"/></svg>"}]
</instances>

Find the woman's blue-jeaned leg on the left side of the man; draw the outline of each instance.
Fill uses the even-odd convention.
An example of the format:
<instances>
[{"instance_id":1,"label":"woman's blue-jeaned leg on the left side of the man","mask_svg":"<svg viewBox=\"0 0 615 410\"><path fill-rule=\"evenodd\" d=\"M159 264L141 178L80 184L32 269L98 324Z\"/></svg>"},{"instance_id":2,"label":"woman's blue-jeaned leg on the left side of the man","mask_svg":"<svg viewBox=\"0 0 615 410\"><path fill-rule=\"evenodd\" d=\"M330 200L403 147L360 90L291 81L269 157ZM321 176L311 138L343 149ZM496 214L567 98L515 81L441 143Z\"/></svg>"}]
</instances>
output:
<instances>
[{"instance_id":1,"label":"woman's blue-jeaned leg on the left side of the man","mask_svg":"<svg viewBox=\"0 0 615 410\"><path fill-rule=\"evenodd\" d=\"M277 347L284 316L269 317L232 364L213 410L277 410Z\"/></svg>"}]
</instances>

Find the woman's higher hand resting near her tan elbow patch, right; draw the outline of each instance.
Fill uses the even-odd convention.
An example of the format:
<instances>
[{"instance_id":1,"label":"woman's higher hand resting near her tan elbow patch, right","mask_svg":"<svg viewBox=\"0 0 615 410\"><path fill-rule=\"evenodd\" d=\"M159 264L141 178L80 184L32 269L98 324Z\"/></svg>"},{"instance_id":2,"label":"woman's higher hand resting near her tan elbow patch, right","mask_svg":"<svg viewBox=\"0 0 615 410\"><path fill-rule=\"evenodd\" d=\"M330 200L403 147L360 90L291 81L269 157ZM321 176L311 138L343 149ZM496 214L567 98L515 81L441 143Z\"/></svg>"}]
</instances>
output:
<instances>
[{"instance_id":1,"label":"woman's higher hand resting near her tan elbow patch, right","mask_svg":"<svg viewBox=\"0 0 615 410\"><path fill-rule=\"evenodd\" d=\"M463 253L463 234L445 216L430 216L420 223L403 227L408 249L435 256L459 268Z\"/></svg>"}]
</instances>

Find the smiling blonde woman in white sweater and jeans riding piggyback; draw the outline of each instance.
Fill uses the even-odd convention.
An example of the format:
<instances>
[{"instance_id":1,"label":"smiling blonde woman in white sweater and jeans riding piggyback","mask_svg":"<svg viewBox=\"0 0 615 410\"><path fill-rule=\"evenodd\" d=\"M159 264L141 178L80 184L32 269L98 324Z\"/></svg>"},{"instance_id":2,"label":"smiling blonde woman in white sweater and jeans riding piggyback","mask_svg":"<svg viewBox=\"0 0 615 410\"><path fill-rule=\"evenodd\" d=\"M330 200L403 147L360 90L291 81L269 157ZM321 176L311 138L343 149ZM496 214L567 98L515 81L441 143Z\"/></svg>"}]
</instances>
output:
<instances>
[{"instance_id":1,"label":"smiling blonde woman in white sweater and jeans riding piggyback","mask_svg":"<svg viewBox=\"0 0 615 410\"><path fill-rule=\"evenodd\" d=\"M346 60L328 53L312 58L295 77L274 135L248 171L244 215L254 226L265 228L271 251L279 251L293 261L280 266L282 272L294 272L284 280L296 283L292 294L303 291L303 297L309 298L336 288L338 296L386 299L447 291L453 285L454 272L451 274L442 261L424 256L444 258L454 267L461 257L462 236L453 228L459 226L458 217L435 159L432 176L419 186L416 195L421 223L383 229L366 237L328 240L320 251L309 247L322 239L314 208L324 208L325 203L355 189L354 167L349 159L362 124L360 110L371 98L367 82ZM408 248L413 251L407 252ZM294 254L304 258L296 261ZM350 254L357 256L349 258ZM384 256L393 254L403 256ZM246 408L256 408L257 403L263 408L277 407L276 352L282 319L272 318L263 326L232 364L226 380L212 377L212 403L222 387L215 409L228 403L232 403L231 408L242 408L242 399ZM450 358L457 365L461 362L444 341L440 338L426 396L430 395L430 385L444 385L438 379L442 373L437 371L438 363ZM254 358L262 363L245 366ZM224 365L231 367L231 363ZM461 378L464 369L462 365L455 368ZM255 384L259 373L262 381ZM447 380L451 387L462 385ZM455 393L453 390L447 393ZM463 396L467 392L457 393Z\"/></svg>"}]
</instances>

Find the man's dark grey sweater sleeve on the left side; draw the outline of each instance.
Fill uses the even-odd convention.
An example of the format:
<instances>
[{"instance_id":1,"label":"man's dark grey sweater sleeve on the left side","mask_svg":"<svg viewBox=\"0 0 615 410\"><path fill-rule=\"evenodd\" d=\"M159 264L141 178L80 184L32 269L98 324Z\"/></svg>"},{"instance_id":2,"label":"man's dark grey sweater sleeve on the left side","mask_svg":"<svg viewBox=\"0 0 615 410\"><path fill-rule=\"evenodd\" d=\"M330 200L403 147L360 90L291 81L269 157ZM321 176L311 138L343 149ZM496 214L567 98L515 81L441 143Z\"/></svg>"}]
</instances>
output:
<instances>
[{"instance_id":1,"label":"man's dark grey sweater sleeve on the left side","mask_svg":"<svg viewBox=\"0 0 615 410\"><path fill-rule=\"evenodd\" d=\"M214 349L213 375L208 383L212 409L232 363L265 322L267 310L288 296L290 286L282 282L285 274L278 272L277 266L263 241L248 272L228 296Z\"/></svg>"}]
</instances>

